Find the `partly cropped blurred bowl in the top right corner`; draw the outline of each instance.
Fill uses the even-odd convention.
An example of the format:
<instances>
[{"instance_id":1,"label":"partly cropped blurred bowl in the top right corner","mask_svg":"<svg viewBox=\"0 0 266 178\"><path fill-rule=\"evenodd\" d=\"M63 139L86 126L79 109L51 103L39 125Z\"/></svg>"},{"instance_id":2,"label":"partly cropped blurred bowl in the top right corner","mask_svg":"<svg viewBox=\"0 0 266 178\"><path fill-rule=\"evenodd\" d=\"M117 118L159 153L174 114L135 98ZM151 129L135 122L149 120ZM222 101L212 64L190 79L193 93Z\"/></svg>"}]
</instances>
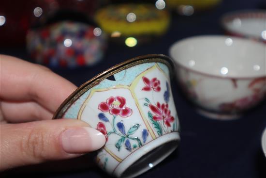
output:
<instances>
[{"instance_id":1,"label":"partly cropped blurred bowl in the top right corner","mask_svg":"<svg viewBox=\"0 0 266 178\"><path fill-rule=\"evenodd\" d=\"M266 10L242 10L222 16L222 27L229 35L266 43Z\"/></svg>"}]
</instances>

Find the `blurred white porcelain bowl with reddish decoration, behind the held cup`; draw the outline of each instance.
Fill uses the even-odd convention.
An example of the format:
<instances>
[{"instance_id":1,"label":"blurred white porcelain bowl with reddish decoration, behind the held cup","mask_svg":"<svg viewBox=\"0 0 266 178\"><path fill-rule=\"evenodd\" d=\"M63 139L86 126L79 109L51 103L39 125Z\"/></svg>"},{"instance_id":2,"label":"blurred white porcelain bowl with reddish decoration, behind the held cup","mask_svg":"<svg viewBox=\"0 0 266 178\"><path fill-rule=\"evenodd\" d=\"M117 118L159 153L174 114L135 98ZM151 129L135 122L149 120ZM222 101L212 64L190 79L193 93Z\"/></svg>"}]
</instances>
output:
<instances>
[{"instance_id":1,"label":"blurred white porcelain bowl with reddish decoration, behind the held cup","mask_svg":"<svg viewBox=\"0 0 266 178\"><path fill-rule=\"evenodd\" d=\"M196 36L172 45L177 79L197 110L210 118L232 119L266 94L266 46L222 35Z\"/></svg>"}]
</instances>

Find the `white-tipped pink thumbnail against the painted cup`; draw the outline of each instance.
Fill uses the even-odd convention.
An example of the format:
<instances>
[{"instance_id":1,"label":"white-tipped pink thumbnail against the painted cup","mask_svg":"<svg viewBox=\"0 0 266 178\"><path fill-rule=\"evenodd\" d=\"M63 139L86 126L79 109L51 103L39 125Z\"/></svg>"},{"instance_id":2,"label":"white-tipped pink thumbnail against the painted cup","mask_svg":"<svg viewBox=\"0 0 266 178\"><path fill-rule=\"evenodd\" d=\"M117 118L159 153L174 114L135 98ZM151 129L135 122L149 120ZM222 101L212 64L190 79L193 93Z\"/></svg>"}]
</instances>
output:
<instances>
[{"instance_id":1,"label":"white-tipped pink thumbnail against the painted cup","mask_svg":"<svg viewBox=\"0 0 266 178\"><path fill-rule=\"evenodd\" d=\"M62 147L67 153L86 153L105 144L103 133L89 127L70 128L61 135Z\"/></svg>"}]
</instances>

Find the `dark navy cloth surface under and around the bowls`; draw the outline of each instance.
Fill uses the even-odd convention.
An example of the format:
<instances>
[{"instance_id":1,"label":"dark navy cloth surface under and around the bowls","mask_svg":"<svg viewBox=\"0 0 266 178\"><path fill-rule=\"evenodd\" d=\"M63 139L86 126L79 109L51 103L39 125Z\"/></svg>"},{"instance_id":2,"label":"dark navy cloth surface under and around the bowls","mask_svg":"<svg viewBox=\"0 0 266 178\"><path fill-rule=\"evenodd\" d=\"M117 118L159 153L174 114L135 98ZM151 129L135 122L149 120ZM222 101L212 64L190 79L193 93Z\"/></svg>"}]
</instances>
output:
<instances>
[{"instance_id":1,"label":"dark navy cloth surface under and around the bowls","mask_svg":"<svg viewBox=\"0 0 266 178\"><path fill-rule=\"evenodd\" d=\"M215 9L192 16L172 16L169 31L151 44L128 48L110 44L103 62L93 67L54 70L79 86L101 71L124 60L144 54L169 54L179 39L201 34L223 34L220 18L225 12L266 8L266 0L223 0ZM0 49L0 53L28 59L25 49ZM199 115L181 94L176 81L173 96L181 125L178 149L140 178L266 178L266 157L261 136L266 127L266 102L232 121L211 120ZM105 178L90 155L68 161L48 162L1 173L4 177Z\"/></svg>"}]
</instances>

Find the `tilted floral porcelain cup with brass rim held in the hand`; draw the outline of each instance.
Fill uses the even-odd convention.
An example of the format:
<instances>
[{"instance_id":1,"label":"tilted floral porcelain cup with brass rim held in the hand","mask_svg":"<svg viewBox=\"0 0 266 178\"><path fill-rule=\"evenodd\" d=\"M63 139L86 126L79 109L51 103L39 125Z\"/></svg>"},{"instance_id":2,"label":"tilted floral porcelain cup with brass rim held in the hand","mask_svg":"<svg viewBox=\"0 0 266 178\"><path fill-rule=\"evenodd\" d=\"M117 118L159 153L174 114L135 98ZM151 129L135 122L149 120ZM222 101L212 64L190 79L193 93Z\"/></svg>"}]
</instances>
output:
<instances>
[{"instance_id":1,"label":"tilted floral porcelain cup with brass rim held in the hand","mask_svg":"<svg viewBox=\"0 0 266 178\"><path fill-rule=\"evenodd\" d=\"M101 131L106 143L97 163L116 177L135 177L178 145L179 122L170 58L145 55L115 65L82 84L54 118L80 119Z\"/></svg>"}]
</instances>

